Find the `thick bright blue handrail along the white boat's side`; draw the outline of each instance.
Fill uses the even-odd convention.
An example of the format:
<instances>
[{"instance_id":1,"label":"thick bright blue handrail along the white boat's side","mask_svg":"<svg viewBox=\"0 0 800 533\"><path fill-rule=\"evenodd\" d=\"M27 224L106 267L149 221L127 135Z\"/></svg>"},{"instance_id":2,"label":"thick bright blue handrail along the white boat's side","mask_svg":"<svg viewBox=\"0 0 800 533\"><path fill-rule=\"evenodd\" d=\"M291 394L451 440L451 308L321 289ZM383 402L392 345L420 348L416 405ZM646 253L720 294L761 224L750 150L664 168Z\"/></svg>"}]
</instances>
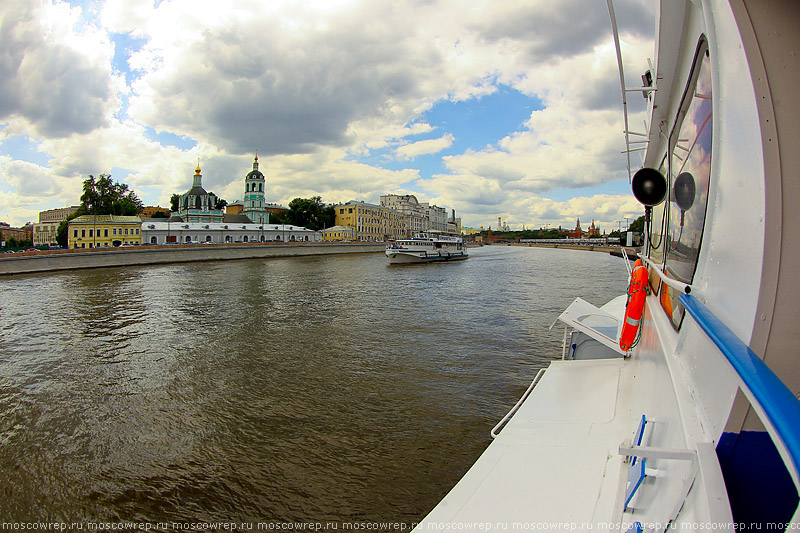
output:
<instances>
[{"instance_id":1,"label":"thick bright blue handrail along the white boat's side","mask_svg":"<svg viewBox=\"0 0 800 533\"><path fill-rule=\"evenodd\" d=\"M758 413L784 460L789 459L786 461L791 465L789 474L800 489L800 400L697 298L681 294L678 299L736 371L742 392Z\"/></svg>"}]
</instances>

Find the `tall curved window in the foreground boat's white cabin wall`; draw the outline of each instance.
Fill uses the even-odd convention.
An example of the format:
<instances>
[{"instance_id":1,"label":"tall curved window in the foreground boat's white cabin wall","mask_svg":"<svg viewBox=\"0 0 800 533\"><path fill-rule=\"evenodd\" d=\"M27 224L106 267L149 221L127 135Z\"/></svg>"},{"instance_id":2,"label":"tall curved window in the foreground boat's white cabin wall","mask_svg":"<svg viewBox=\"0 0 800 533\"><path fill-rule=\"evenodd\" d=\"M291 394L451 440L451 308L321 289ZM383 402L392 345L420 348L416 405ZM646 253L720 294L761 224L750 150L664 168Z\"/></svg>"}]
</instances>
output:
<instances>
[{"instance_id":1,"label":"tall curved window in the foreground boat's white cabin wall","mask_svg":"<svg viewBox=\"0 0 800 533\"><path fill-rule=\"evenodd\" d=\"M711 176L711 69L708 44L700 40L684 101L670 135L670 197L665 242L665 271L670 277L691 283L697 268L708 204ZM675 329L683 321L684 308L678 292L663 286L661 305Z\"/></svg>"}]
</instances>

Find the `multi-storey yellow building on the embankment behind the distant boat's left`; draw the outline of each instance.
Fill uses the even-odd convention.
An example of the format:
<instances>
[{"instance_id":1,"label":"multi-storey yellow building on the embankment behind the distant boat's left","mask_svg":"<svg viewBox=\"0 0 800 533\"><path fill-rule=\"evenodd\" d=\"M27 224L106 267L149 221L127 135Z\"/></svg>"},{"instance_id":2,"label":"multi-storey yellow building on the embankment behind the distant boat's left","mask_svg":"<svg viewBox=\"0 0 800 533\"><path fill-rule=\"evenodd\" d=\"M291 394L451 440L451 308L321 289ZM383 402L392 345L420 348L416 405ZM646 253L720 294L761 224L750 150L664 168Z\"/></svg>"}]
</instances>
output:
<instances>
[{"instance_id":1,"label":"multi-storey yellow building on the embankment behind the distant boat's left","mask_svg":"<svg viewBox=\"0 0 800 533\"><path fill-rule=\"evenodd\" d=\"M408 216L380 205L347 202L335 206L336 225L355 230L353 240L388 241L408 235Z\"/></svg>"}]
</instances>

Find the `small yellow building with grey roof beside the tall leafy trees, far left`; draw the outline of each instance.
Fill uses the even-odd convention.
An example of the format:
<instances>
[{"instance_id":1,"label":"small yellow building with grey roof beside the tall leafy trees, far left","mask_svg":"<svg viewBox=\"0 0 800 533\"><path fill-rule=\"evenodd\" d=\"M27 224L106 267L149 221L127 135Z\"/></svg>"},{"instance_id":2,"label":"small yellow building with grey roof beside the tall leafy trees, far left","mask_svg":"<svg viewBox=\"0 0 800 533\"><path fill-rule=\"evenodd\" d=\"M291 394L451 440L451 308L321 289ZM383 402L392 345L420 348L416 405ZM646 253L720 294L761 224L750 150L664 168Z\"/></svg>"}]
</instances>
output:
<instances>
[{"instance_id":1,"label":"small yellow building with grey roof beside the tall leafy trees, far left","mask_svg":"<svg viewBox=\"0 0 800 533\"><path fill-rule=\"evenodd\" d=\"M69 222L70 248L109 248L142 243L142 219L118 215L83 215Z\"/></svg>"}]
</instances>

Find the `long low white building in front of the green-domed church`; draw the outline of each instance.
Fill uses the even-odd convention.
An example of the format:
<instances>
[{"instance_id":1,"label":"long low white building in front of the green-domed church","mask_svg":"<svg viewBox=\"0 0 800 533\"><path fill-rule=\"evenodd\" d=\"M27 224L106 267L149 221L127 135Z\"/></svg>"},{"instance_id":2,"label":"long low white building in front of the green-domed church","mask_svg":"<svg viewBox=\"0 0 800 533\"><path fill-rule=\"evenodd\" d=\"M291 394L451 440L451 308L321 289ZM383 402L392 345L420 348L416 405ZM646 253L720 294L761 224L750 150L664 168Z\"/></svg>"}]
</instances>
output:
<instances>
[{"instance_id":1,"label":"long low white building in front of the green-domed church","mask_svg":"<svg viewBox=\"0 0 800 533\"><path fill-rule=\"evenodd\" d=\"M308 228L290 224L253 224L218 222L142 223L142 244L214 244L237 242L320 242L322 235Z\"/></svg>"}]
</instances>

